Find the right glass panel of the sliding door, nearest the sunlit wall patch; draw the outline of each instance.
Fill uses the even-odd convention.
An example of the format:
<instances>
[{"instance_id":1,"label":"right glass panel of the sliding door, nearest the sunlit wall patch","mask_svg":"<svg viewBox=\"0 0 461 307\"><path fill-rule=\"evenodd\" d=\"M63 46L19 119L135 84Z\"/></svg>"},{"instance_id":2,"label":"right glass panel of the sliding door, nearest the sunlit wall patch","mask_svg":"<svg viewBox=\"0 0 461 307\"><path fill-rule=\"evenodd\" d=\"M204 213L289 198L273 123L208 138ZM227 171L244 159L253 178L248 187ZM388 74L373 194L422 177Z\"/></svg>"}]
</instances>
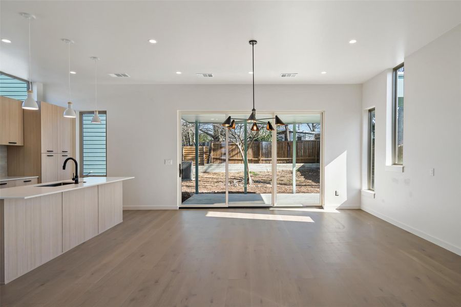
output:
<instances>
[{"instance_id":1,"label":"right glass panel of the sliding door, nearest the sunlit wall patch","mask_svg":"<svg viewBox=\"0 0 461 307\"><path fill-rule=\"evenodd\" d=\"M279 116L277 206L320 206L321 115Z\"/></svg>"}]
</instances>

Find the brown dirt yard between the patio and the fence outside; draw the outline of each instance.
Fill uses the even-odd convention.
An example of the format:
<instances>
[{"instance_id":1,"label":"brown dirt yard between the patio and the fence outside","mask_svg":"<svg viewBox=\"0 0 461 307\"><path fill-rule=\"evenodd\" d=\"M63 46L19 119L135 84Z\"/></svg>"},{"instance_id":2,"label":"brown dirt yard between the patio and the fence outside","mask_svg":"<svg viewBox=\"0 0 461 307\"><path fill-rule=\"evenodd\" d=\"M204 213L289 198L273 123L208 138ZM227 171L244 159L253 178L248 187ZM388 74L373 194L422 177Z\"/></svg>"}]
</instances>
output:
<instances>
[{"instance_id":1,"label":"brown dirt yard between the patio and the fence outside","mask_svg":"<svg viewBox=\"0 0 461 307\"><path fill-rule=\"evenodd\" d=\"M248 193L271 193L272 173L270 171L250 172L252 185L247 186ZM199 173L200 193L225 193L225 173ZM293 179L291 170L277 171L277 192L291 193ZM296 171L297 193L320 193L320 169L298 169ZM195 193L195 181L182 182L182 201ZM243 193L243 171L229 172L229 193Z\"/></svg>"}]
</instances>

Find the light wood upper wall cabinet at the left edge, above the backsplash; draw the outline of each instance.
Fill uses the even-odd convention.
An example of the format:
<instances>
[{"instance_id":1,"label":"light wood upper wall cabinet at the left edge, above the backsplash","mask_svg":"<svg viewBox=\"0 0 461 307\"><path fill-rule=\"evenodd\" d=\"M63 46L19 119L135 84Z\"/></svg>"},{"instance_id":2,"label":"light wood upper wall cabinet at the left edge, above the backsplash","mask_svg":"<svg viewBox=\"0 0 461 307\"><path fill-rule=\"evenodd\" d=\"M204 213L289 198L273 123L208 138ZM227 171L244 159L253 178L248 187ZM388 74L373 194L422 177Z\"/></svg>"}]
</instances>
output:
<instances>
[{"instance_id":1,"label":"light wood upper wall cabinet at the left edge, above the backsplash","mask_svg":"<svg viewBox=\"0 0 461 307\"><path fill-rule=\"evenodd\" d=\"M22 102L0 96L0 144L24 145L23 124Z\"/></svg>"}]
</instances>

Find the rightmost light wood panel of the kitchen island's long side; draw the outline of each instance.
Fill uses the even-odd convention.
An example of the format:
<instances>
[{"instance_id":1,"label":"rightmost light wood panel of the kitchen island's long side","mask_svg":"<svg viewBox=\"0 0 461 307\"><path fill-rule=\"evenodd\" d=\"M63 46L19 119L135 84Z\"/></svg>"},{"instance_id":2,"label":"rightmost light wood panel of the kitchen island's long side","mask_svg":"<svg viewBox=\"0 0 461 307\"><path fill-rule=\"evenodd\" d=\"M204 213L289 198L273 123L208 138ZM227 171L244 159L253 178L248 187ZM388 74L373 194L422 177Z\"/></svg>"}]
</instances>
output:
<instances>
[{"instance_id":1,"label":"rightmost light wood panel of the kitchen island's long side","mask_svg":"<svg viewBox=\"0 0 461 307\"><path fill-rule=\"evenodd\" d=\"M98 186L99 233L122 222L122 193L121 181Z\"/></svg>"}]
</instances>

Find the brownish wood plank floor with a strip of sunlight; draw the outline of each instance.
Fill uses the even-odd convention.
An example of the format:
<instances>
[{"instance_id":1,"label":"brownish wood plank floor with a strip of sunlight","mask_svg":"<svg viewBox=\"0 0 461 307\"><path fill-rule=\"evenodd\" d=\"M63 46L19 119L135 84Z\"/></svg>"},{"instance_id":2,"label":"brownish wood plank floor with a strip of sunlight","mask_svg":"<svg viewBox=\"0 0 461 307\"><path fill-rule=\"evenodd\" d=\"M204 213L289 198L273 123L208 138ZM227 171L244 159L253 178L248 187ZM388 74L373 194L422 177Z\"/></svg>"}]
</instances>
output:
<instances>
[{"instance_id":1,"label":"brownish wood plank floor with a strip of sunlight","mask_svg":"<svg viewBox=\"0 0 461 307\"><path fill-rule=\"evenodd\" d=\"M123 220L2 286L2 307L461 306L460 256L361 210Z\"/></svg>"}]
</instances>

